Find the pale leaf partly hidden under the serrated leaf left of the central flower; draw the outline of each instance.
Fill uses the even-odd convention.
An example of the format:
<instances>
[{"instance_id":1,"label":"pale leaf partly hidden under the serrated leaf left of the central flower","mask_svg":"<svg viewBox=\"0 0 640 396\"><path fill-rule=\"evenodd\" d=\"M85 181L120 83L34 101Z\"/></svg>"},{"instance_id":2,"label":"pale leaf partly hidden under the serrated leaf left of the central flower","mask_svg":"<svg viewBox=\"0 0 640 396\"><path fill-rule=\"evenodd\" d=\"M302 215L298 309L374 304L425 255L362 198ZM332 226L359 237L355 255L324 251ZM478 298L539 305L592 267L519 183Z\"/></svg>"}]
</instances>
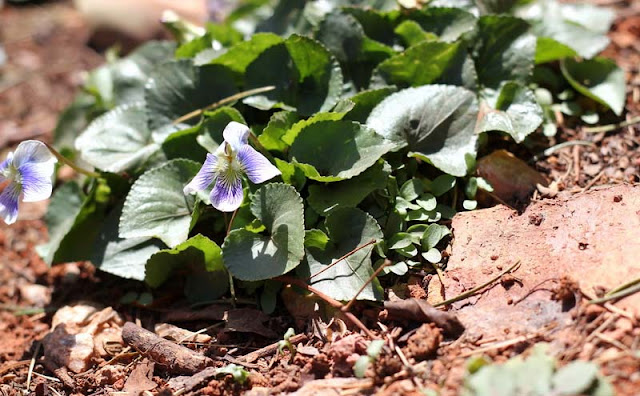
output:
<instances>
[{"instance_id":1,"label":"pale leaf partly hidden under the serrated leaf left of the central flower","mask_svg":"<svg viewBox=\"0 0 640 396\"><path fill-rule=\"evenodd\" d=\"M166 246L149 237L120 238L122 204L113 209L99 228L90 260L97 268L121 278L144 280L147 260Z\"/></svg>"}]
</instances>

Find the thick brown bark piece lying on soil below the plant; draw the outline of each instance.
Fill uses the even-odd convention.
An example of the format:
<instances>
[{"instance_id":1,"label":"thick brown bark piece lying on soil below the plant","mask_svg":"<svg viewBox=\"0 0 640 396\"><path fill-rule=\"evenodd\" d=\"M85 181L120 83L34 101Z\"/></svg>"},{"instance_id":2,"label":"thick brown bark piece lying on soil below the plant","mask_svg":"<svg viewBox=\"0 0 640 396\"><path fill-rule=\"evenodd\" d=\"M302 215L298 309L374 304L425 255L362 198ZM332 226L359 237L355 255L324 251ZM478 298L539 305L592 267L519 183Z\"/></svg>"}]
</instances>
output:
<instances>
[{"instance_id":1,"label":"thick brown bark piece lying on soil below the plant","mask_svg":"<svg viewBox=\"0 0 640 396\"><path fill-rule=\"evenodd\" d=\"M208 357L160 338L131 322L122 328L122 339L170 373L194 374L213 364Z\"/></svg>"}]
</instances>

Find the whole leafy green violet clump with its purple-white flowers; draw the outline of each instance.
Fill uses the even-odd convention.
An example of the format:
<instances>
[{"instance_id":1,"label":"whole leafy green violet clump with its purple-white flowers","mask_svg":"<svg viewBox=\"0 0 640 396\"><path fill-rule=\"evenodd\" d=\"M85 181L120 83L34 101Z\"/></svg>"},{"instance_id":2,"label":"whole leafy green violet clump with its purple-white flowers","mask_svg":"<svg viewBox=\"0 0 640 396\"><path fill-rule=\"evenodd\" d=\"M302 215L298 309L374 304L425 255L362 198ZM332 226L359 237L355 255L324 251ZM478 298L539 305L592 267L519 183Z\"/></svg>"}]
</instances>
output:
<instances>
[{"instance_id":1,"label":"whole leafy green violet clump with its purple-white flowers","mask_svg":"<svg viewBox=\"0 0 640 396\"><path fill-rule=\"evenodd\" d=\"M533 150L558 111L622 113L606 9L378 3L249 3L91 72L38 180L20 147L2 164L25 200L49 192L53 158L78 173L39 253L180 282L193 304L249 295L271 313L284 283L381 302L385 277L445 269L447 221L492 193L475 166L496 139Z\"/></svg>"}]
</instances>

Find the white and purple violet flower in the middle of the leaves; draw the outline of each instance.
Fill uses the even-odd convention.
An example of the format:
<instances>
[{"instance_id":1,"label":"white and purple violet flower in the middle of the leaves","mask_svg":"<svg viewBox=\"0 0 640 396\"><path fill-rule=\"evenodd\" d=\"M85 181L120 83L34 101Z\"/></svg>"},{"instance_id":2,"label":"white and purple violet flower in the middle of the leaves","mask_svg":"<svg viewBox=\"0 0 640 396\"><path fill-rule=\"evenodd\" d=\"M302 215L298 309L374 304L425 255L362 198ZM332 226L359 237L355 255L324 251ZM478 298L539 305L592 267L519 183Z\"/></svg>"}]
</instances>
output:
<instances>
[{"instance_id":1,"label":"white and purple violet flower in the middle of the leaves","mask_svg":"<svg viewBox=\"0 0 640 396\"><path fill-rule=\"evenodd\" d=\"M184 188L185 194L206 190L215 181L209 199L221 212L233 212L242 204L242 174L259 184L280 175L278 168L249 145L249 128L232 121L222 132L224 142L207 154L198 174Z\"/></svg>"}]
</instances>

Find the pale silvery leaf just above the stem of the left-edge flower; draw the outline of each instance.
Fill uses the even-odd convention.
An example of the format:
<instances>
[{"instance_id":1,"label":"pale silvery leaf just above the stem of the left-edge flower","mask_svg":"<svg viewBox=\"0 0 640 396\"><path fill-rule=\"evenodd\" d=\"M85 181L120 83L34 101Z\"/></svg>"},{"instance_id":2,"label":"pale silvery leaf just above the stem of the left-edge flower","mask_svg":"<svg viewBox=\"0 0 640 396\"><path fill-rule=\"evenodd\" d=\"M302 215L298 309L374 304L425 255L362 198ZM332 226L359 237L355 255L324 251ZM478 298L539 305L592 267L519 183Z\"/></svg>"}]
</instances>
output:
<instances>
[{"instance_id":1,"label":"pale silvery leaf just above the stem of the left-edge flower","mask_svg":"<svg viewBox=\"0 0 640 396\"><path fill-rule=\"evenodd\" d=\"M83 160L106 172L132 170L158 151L166 133L152 133L143 102L125 104L94 120L76 139Z\"/></svg>"}]
</instances>

